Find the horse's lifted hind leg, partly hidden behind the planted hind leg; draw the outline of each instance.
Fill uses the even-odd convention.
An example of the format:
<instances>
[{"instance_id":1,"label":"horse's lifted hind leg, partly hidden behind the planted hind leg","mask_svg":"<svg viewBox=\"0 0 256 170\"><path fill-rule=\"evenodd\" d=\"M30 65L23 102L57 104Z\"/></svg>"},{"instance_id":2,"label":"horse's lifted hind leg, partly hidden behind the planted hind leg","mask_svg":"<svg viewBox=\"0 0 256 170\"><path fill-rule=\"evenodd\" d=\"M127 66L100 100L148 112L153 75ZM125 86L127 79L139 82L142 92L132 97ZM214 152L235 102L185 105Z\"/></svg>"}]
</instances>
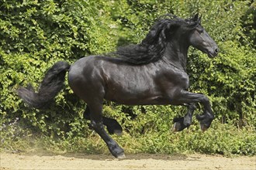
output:
<instances>
[{"instance_id":1,"label":"horse's lifted hind leg, partly hidden behind the planted hind leg","mask_svg":"<svg viewBox=\"0 0 256 170\"><path fill-rule=\"evenodd\" d=\"M91 120L89 107L86 107L84 112L84 118L86 120ZM103 124L106 125L109 134L116 134L118 136L122 135L123 128L115 119L109 117L102 117Z\"/></svg>"}]
</instances>

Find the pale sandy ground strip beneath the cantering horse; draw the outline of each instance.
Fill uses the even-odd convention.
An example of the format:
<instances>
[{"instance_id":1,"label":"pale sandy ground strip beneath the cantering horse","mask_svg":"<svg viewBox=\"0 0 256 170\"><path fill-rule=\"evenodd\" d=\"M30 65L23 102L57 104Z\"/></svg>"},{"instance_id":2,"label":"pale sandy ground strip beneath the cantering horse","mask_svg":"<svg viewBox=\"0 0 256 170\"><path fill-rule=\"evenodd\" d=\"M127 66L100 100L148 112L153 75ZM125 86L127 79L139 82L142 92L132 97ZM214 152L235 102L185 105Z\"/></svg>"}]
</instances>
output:
<instances>
[{"instance_id":1,"label":"pale sandy ground strip beneath the cantering horse","mask_svg":"<svg viewBox=\"0 0 256 170\"><path fill-rule=\"evenodd\" d=\"M111 155L0 153L0 170L12 169L253 169L256 156L226 158L221 155Z\"/></svg>"}]
</instances>

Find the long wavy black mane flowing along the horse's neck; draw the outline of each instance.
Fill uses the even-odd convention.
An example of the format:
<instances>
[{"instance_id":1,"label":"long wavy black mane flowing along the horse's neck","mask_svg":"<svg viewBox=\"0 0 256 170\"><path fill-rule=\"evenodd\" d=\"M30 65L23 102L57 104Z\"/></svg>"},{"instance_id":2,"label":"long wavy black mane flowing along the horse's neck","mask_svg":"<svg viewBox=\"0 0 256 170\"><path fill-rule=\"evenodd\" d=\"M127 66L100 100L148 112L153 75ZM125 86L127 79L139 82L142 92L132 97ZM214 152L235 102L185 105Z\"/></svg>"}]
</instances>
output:
<instances>
[{"instance_id":1,"label":"long wavy black mane flowing along the horse's neck","mask_svg":"<svg viewBox=\"0 0 256 170\"><path fill-rule=\"evenodd\" d=\"M140 44L119 47L113 54L124 62L133 65L155 62L164 55L167 40L170 41L171 33L174 33L179 26L194 29L198 25L198 20L180 19L170 14L163 15L157 19Z\"/></svg>"}]
</instances>

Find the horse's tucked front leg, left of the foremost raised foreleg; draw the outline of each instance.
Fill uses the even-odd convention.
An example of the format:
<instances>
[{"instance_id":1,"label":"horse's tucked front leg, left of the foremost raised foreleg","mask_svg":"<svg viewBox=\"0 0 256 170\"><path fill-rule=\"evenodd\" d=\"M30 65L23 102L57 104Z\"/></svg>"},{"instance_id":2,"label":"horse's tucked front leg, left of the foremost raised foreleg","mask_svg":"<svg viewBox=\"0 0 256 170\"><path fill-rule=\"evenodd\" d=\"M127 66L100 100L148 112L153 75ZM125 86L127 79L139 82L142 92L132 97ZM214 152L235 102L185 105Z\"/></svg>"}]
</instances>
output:
<instances>
[{"instance_id":1,"label":"horse's tucked front leg, left of the foremost raised foreleg","mask_svg":"<svg viewBox=\"0 0 256 170\"><path fill-rule=\"evenodd\" d=\"M190 124L192 124L192 116L195 111L195 104L185 104L188 107L188 113L185 117L174 118L174 126L173 131L182 131L185 128L189 128Z\"/></svg>"}]
</instances>

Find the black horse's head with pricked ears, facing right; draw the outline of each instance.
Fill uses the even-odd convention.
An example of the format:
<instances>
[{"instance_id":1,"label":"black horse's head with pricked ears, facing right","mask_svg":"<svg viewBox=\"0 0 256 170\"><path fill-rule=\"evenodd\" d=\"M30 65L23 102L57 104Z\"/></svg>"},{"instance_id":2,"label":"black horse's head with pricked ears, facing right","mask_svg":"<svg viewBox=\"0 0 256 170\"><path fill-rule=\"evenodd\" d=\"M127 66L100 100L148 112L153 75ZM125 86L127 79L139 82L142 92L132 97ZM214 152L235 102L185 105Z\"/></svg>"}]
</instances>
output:
<instances>
[{"instance_id":1,"label":"black horse's head with pricked ears, facing right","mask_svg":"<svg viewBox=\"0 0 256 170\"><path fill-rule=\"evenodd\" d=\"M213 41L206 30L201 26L201 17L196 14L190 22L196 23L195 28L192 29L189 36L190 45L203 53L207 53L210 58L217 56L219 48L216 45L216 42Z\"/></svg>"}]
</instances>

